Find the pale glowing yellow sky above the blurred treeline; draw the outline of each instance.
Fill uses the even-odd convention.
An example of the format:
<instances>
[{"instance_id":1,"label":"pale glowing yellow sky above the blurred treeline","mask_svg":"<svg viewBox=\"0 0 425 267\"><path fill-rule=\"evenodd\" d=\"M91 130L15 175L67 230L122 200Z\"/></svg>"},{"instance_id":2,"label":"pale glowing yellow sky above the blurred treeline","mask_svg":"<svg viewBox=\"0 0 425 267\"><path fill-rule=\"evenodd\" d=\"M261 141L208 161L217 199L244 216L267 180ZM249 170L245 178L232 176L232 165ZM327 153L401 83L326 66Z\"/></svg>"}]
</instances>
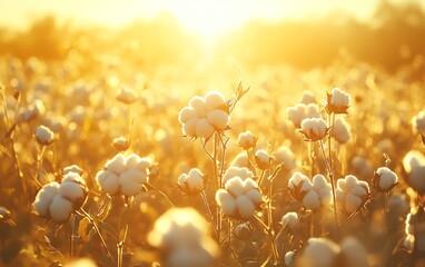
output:
<instances>
[{"instance_id":1,"label":"pale glowing yellow sky above the blurred treeline","mask_svg":"<svg viewBox=\"0 0 425 267\"><path fill-rule=\"evenodd\" d=\"M168 12L201 37L212 38L248 19L305 19L329 11L372 16L380 0L0 0L0 24L23 28L31 18L55 13L81 22L121 26ZM391 2L401 0L391 0ZM415 1L415 0L404 0ZM416 0L419 1L419 0ZM425 6L425 1L422 1Z\"/></svg>"}]
</instances>

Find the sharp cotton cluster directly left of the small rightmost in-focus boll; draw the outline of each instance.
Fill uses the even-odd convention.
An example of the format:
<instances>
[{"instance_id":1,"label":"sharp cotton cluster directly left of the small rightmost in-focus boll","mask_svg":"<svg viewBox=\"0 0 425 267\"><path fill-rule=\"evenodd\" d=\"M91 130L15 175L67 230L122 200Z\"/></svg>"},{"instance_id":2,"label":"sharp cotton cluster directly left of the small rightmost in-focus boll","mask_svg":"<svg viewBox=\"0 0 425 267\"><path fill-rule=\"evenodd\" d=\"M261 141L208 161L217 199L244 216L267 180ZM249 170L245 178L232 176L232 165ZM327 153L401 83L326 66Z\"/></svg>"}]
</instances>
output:
<instances>
[{"instance_id":1,"label":"sharp cotton cluster directly left of the small rightmost in-focus boll","mask_svg":"<svg viewBox=\"0 0 425 267\"><path fill-rule=\"evenodd\" d=\"M369 199L369 186L366 181L348 175L337 180L336 204L344 212L353 214Z\"/></svg>"}]
</instances>

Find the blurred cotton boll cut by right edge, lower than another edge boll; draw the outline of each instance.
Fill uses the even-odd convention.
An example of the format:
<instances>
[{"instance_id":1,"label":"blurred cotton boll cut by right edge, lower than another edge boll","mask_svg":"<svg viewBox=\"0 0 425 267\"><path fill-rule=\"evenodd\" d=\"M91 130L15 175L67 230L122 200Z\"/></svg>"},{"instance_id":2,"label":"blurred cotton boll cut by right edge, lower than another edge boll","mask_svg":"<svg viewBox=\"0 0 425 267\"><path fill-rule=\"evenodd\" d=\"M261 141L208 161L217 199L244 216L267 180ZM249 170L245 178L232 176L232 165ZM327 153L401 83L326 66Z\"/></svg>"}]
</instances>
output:
<instances>
[{"instance_id":1,"label":"blurred cotton boll cut by right edge, lower than another edge boll","mask_svg":"<svg viewBox=\"0 0 425 267\"><path fill-rule=\"evenodd\" d=\"M406 182L419 195L424 195L425 156L417 150L411 150L403 158L403 168L406 172Z\"/></svg>"}]
</instances>

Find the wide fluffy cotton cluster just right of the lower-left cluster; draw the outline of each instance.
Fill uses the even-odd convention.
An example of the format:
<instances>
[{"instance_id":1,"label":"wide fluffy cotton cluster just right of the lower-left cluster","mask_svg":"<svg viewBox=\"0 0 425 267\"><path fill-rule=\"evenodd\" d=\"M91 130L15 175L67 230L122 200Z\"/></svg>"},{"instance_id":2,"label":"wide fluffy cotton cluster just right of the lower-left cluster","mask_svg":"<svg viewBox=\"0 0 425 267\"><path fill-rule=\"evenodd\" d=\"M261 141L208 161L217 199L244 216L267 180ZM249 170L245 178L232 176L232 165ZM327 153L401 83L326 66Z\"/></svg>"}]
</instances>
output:
<instances>
[{"instance_id":1,"label":"wide fluffy cotton cluster just right of the lower-left cluster","mask_svg":"<svg viewBox=\"0 0 425 267\"><path fill-rule=\"evenodd\" d=\"M136 154L126 157L118 154L105 165L105 169L96 175L101 190L110 196L122 194L135 196L142 190L144 184L149 180L150 158L140 158Z\"/></svg>"}]
</instances>

